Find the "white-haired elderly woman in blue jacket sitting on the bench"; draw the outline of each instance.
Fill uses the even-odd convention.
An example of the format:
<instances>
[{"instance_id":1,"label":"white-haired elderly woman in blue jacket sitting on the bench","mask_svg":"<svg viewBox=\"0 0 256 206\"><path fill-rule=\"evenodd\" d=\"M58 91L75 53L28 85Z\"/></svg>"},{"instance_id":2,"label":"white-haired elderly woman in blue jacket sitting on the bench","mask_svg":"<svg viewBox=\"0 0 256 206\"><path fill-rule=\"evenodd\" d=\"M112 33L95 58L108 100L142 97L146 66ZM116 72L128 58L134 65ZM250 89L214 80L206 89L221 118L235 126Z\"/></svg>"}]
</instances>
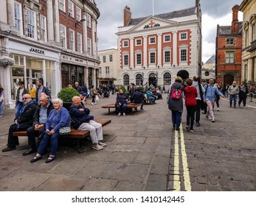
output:
<instances>
[{"instance_id":1,"label":"white-haired elderly woman in blue jacket sitting on the bench","mask_svg":"<svg viewBox=\"0 0 256 206\"><path fill-rule=\"evenodd\" d=\"M46 163L55 160L58 149L58 139L60 138L59 129L70 126L69 111L63 107L63 101L61 99L54 99L52 103L54 110L49 113L49 117L46 120L46 134L38 147L38 153L30 160L30 163L35 163L42 159L42 154L45 152L49 141L51 141L51 152Z\"/></svg>"}]
</instances>

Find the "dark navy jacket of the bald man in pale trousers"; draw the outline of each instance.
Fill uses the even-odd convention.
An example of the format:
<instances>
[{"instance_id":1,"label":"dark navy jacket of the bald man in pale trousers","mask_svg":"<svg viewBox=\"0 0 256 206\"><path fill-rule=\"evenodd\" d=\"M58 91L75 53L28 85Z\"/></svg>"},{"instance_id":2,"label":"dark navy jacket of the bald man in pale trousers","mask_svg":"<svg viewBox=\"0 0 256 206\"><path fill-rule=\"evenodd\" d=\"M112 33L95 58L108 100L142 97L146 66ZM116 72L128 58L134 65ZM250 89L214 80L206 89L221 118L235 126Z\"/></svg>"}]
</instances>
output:
<instances>
[{"instance_id":1,"label":"dark navy jacket of the bald man in pale trousers","mask_svg":"<svg viewBox=\"0 0 256 206\"><path fill-rule=\"evenodd\" d=\"M80 111L80 109L83 109L83 111ZM75 106L72 104L69 107L69 114L72 118L72 121L74 122L73 126L75 129L78 129L81 124L83 123L89 123L90 116L89 116L90 110L86 107L84 107L82 104L80 106Z\"/></svg>"}]
</instances>

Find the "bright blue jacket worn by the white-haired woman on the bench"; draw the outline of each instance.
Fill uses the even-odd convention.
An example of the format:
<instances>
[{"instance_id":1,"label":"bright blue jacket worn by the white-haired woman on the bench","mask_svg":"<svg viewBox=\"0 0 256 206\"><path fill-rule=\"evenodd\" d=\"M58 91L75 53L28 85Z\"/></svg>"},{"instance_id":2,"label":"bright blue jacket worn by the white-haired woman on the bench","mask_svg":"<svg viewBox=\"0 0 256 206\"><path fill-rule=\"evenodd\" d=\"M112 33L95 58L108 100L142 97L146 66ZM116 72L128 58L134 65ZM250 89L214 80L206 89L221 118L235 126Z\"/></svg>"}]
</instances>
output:
<instances>
[{"instance_id":1,"label":"bright blue jacket worn by the white-haired woman on the bench","mask_svg":"<svg viewBox=\"0 0 256 206\"><path fill-rule=\"evenodd\" d=\"M49 117L46 120L46 129L51 130L50 127L52 125L54 126L52 129L55 132L58 132L62 127L70 126L69 111L65 107L61 107L58 113L55 109L49 113Z\"/></svg>"}]
</instances>

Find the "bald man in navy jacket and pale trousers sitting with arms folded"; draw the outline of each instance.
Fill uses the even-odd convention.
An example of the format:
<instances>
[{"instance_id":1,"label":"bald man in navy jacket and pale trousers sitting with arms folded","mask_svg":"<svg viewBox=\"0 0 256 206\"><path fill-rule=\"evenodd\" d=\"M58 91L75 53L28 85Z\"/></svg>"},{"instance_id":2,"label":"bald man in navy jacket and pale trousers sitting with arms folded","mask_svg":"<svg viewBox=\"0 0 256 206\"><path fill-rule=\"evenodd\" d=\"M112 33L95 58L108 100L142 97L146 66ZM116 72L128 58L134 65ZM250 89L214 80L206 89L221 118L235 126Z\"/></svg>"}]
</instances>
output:
<instances>
[{"instance_id":1,"label":"bald man in navy jacket and pale trousers sitting with arms folded","mask_svg":"<svg viewBox=\"0 0 256 206\"><path fill-rule=\"evenodd\" d=\"M81 104L79 96L72 98L72 105L69 108L69 114L74 121L74 128L78 130L89 130L93 149L103 149L106 146L103 141L103 127L101 124L90 119L90 110Z\"/></svg>"}]
</instances>

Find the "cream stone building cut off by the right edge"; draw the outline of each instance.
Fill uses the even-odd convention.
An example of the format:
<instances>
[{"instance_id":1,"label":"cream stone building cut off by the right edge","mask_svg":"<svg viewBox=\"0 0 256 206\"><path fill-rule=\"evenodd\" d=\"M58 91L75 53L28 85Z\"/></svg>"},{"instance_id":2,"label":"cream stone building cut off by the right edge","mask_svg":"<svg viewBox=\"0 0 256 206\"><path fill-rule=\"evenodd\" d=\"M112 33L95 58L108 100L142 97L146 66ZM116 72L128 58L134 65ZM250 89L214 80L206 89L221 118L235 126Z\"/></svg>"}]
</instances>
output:
<instances>
[{"instance_id":1,"label":"cream stone building cut off by the right edge","mask_svg":"<svg viewBox=\"0 0 256 206\"><path fill-rule=\"evenodd\" d=\"M256 82L256 1L243 0L239 10L243 13L242 79Z\"/></svg>"}]
</instances>

